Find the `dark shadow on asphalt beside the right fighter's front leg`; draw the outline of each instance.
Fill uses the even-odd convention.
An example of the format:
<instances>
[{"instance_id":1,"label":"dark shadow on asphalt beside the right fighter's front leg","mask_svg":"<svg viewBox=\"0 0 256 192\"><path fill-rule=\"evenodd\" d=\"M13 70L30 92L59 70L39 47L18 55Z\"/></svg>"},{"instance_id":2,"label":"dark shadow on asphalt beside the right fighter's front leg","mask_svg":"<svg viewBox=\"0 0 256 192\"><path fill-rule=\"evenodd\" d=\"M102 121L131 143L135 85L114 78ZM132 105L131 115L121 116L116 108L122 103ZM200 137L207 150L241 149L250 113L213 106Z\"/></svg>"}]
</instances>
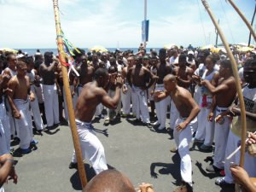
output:
<instances>
[{"instance_id":1,"label":"dark shadow on asphalt beside the right fighter's front leg","mask_svg":"<svg viewBox=\"0 0 256 192\"><path fill-rule=\"evenodd\" d=\"M180 175L180 157L178 154L174 154L172 156L172 163L161 163L161 162L156 162L152 163L150 166L150 174L151 177L157 178L159 177L159 174L154 171L156 167L160 167L159 173L161 175L169 175L171 174L172 177L176 180L172 182L175 185L179 185L182 181L182 177ZM177 174L178 173L178 174Z\"/></svg>"}]
</instances>

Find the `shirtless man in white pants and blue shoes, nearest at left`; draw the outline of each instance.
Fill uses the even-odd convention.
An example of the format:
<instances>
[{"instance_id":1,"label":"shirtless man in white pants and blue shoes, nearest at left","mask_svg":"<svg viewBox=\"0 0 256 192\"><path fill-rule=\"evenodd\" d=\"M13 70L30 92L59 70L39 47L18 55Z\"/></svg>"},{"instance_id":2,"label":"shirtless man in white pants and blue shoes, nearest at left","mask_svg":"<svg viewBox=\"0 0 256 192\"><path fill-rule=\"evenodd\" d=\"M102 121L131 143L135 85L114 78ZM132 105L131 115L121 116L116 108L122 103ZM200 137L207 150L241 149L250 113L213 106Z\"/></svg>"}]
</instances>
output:
<instances>
[{"instance_id":1,"label":"shirtless man in white pants and blue shoes, nearest at left","mask_svg":"<svg viewBox=\"0 0 256 192\"><path fill-rule=\"evenodd\" d=\"M32 134L32 116L29 111L29 101L33 102L35 97L30 90L29 77L26 76L26 63L17 62L17 75L9 80L9 105L12 109L15 122L19 125L20 149L21 153L30 153L30 143L38 143ZM29 98L28 98L29 96Z\"/></svg>"}]
</instances>

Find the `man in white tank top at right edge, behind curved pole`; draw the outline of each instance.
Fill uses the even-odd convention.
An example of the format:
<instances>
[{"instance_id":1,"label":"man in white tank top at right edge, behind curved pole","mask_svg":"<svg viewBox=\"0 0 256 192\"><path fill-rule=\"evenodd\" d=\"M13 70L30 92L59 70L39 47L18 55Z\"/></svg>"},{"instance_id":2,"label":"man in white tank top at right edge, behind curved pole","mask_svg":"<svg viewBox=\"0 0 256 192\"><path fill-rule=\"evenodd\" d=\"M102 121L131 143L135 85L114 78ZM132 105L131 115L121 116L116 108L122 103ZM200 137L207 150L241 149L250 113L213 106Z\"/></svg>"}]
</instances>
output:
<instances>
[{"instance_id":1,"label":"man in white tank top at right edge, behind curved pole","mask_svg":"<svg viewBox=\"0 0 256 192\"><path fill-rule=\"evenodd\" d=\"M243 70L244 80L247 83L242 88L242 95L244 98L245 110L246 110L246 121L247 121L247 131L255 132L256 131L256 60L248 59L244 64ZM229 90L230 91L230 90ZM226 91L226 94L228 91ZM225 95L224 95L225 97ZM224 99L224 98L223 98ZM230 155L236 148L237 145L241 142L241 109L240 103L237 103L237 106L231 105L227 112L224 114L235 115L232 120L232 125L230 126L230 132L227 140L227 147L225 151L225 156ZM251 134L250 134L251 135ZM250 137L249 135L249 137ZM234 162L236 165L239 164L240 160L240 151L236 153L228 162ZM247 171L249 177L256 177L256 159L254 156L249 155L247 152L244 156L244 169ZM230 164L224 164L224 177L219 177L216 179L215 183L220 186L225 186L230 183L234 183L234 178L230 172Z\"/></svg>"}]
</instances>

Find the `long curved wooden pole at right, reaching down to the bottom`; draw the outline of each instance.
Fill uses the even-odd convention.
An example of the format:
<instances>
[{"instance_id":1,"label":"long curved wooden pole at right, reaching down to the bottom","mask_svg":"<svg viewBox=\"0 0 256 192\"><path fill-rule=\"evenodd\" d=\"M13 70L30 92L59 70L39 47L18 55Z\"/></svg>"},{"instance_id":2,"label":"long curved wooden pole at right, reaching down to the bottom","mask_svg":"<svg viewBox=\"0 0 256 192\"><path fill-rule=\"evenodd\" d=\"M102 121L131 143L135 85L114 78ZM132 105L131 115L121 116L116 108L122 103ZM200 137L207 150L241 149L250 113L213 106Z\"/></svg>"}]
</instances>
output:
<instances>
[{"instance_id":1,"label":"long curved wooden pole at right, reaching down to the bottom","mask_svg":"<svg viewBox=\"0 0 256 192\"><path fill-rule=\"evenodd\" d=\"M206 0L201 0L201 2L203 3L205 8L207 9L207 12L210 15L210 17L212 19L212 22L213 22L214 26L216 27L216 29L218 31L219 37L221 38L222 43L224 44L224 48L226 49L227 54L229 55L230 61L231 61L231 64L232 64L231 66L232 66L233 74L234 74L234 77L235 77L235 80L236 80L236 90L237 90L237 93L238 93L238 98L239 98L240 108L241 108L241 155L240 155L239 166L243 167L244 166L246 134L247 134L247 124L246 124L245 104L244 104L244 100L243 100L243 96L242 96L242 92L241 92L241 81L240 81L240 78L238 76L236 60L235 60L234 55L232 54L232 52L230 50L230 46L227 43L222 30L218 26L217 20L215 20L215 17L212 15L212 11L210 10L210 7L209 7L207 1ZM237 187L236 187L236 191L237 191Z\"/></svg>"}]
</instances>

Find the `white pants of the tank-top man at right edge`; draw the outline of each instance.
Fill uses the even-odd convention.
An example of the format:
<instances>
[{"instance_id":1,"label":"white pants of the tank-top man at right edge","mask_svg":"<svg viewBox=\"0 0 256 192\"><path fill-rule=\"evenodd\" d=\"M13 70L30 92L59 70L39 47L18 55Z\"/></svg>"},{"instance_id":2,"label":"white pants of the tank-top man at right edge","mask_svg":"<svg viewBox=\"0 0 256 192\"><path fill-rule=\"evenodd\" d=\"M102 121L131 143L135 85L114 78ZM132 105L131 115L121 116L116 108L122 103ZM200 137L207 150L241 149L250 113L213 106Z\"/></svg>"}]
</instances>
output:
<instances>
[{"instance_id":1,"label":"white pants of the tank-top man at right edge","mask_svg":"<svg viewBox=\"0 0 256 192\"><path fill-rule=\"evenodd\" d=\"M236 148L240 145L241 138L237 137L231 130L228 137L227 148L225 152L225 156L227 157L232 152L236 150ZM234 178L230 172L230 162L236 163L239 165L240 160L240 150L224 164L225 177L224 181L226 183L234 183ZM247 171L249 177L256 177L256 158L250 156L247 152L245 153L244 159L244 169Z\"/></svg>"}]
</instances>

